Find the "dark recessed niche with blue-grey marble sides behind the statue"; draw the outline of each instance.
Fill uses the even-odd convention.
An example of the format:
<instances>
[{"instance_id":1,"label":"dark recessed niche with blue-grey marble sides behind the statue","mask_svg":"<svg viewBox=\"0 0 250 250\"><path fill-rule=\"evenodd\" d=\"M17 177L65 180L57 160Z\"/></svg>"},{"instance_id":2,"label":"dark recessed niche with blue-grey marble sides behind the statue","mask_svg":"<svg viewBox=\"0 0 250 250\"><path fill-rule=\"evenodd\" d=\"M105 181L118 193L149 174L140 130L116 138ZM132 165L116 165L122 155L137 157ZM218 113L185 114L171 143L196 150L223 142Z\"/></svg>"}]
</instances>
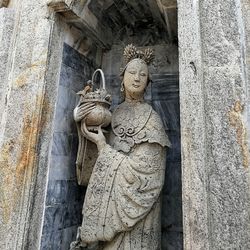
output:
<instances>
[{"instance_id":1,"label":"dark recessed niche with blue-grey marble sides behind the statue","mask_svg":"<svg viewBox=\"0 0 250 250\"><path fill-rule=\"evenodd\" d=\"M77 185L75 173L78 141L72 112L78 102L76 93L100 67L112 94L112 109L119 104L122 54L131 43L155 50L150 66L152 81L145 99L160 114L172 143L162 192L162 249L183 249L176 2L114 0L88 1L85 5L89 23L93 18L98 20L95 29L81 26L68 12L58 14L67 23L67 35L58 83L41 249L68 249L81 224L85 187ZM99 37L102 29L105 34Z\"/></svg>"}]
</instances>

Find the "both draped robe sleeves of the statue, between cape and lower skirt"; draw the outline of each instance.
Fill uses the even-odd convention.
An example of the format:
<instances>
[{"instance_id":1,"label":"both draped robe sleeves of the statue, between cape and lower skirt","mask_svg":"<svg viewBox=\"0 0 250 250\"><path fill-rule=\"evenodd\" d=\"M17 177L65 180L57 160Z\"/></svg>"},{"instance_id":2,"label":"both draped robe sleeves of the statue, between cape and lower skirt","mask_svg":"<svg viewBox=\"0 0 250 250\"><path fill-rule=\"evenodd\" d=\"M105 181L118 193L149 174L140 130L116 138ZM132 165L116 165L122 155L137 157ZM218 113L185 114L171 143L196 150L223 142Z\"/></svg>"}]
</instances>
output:
<instances>
[{"instance_id":1,"label":"both draped robe sleeves of the statue, between cape and lower skirt","mask_svg":"<svg viewBox=\"0 0 250 250\"><path fill-rule=\"evenodd\" d=\"M107 146L99 155L83 207L81 238L110 241L143 219L159 198L165 168L165 150L142 143L125 156Z\"/></svg>"}]
</instances>

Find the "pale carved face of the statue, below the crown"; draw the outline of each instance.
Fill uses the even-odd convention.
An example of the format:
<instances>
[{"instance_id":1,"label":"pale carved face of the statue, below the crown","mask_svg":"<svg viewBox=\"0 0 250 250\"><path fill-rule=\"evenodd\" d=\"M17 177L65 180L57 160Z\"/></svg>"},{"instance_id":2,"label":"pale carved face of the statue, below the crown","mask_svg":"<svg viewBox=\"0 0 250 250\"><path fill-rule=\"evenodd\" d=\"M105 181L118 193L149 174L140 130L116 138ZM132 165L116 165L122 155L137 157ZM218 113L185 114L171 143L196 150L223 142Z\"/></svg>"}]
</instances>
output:
<instances>
[{"instance_id":1,"label":"pale carved face of the statue, below the crown","mask_svg":"<svg viewBox=\"0 0 250 250\"><path fill-rule=\"evenodd\" d=\"M148 66L140 60L131 61L125 70L123 82L126 97L142 97L148 84Z\"/></svg>"}]
</instances>

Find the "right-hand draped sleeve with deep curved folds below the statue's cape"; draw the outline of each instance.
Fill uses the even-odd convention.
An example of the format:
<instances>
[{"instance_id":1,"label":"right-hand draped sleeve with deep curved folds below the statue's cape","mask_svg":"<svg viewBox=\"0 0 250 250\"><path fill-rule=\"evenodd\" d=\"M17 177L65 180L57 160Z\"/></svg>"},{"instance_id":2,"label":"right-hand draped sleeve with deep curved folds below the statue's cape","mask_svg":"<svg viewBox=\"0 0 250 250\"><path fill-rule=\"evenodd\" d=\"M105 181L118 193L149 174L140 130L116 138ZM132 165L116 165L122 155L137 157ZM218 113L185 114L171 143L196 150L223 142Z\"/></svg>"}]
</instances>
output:
<instances>
[{"instance_id":1,"label":"right-hand draped sleeve with deep curved folds below the statue's cape","mask_svg":"<svg viewBox=\"0 0 250 250\"><path fill-rule=\"evenodd\" d=\"M120 164L114 182L117 215L127 230L143 218L159 197L164 182L165 152L142 143Z\"/></svg>"}]
</instances>

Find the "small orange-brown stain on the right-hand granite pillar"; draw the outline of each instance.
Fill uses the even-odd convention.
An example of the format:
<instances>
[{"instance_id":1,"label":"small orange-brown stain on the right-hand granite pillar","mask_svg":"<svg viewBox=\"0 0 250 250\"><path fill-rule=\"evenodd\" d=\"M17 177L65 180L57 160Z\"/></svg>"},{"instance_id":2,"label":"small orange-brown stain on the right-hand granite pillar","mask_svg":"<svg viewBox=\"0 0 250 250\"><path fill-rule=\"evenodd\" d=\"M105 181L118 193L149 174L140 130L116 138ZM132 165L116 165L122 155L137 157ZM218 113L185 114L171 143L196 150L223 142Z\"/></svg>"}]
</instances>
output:
<instances>
[{"instance_id":1,"label":"small orange-brown stain on the right-hand granite pillar","mask_svg":"<svg viewBox=\"0 0 250 250\"><path fill-rule=\"evenodd\" d=\"M243 106L240 101L236 101L233 108L229 111L229 121L231 126L236 129L236 139L241 147L243 166L249 165L249 152L247 146L247 132L242 118Z\"/></svg>"}]
</instances>

